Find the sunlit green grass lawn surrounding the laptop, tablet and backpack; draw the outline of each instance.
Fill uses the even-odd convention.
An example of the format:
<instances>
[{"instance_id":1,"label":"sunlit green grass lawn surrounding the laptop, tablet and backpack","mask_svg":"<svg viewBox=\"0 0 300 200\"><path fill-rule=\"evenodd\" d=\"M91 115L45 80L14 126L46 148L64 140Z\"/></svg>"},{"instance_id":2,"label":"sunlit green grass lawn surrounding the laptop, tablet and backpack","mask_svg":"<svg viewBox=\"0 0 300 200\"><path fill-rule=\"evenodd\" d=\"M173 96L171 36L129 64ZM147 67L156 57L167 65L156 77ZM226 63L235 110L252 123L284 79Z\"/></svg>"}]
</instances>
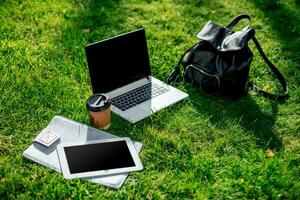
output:
<instances>
[{"instance_id":1,"label":"sunlit green grass lawn surrounding the laptop, tablet and backpack","mask_svg":"<svg viewBox=\"0 0 300 200\"><path fill-rule=\"evenodd\" d=\"M0 199L299 199L300 2L263 0L0 0ZM250 92L232 101L184 83L186 102L109 132L144 143L144 170L111 190L22 157L55 115L90 124L84 46L144 27L153 74L164 80L208 21L249 13L289 84L285 102ZM254 49L254 45L250 46ZM256 54L251 79L278 91ZM275 89L274 89L275 88ZM266 156L268 149L273 157Z\"/></svg>"}]
</instances>

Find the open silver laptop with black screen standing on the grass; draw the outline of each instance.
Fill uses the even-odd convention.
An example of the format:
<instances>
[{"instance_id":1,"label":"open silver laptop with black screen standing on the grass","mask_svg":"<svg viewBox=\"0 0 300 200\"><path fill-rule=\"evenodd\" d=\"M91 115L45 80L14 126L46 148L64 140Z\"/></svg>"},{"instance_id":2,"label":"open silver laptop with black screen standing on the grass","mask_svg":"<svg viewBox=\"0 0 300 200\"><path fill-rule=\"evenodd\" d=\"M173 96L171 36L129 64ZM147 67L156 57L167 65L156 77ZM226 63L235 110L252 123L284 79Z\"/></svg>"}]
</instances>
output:
<instances>
[{"instance_id":1,"label":"open silver laptop with black screen standing on the grass","mask_svg":"<svg viewBox=\"0 0 300 200\"><path fill-rule=\"evenodd\" d=\"M151 76L145 30L85 47L93 93L105 93L111 110L131 123L188 97Z\"/></svg>"}]
</instances>

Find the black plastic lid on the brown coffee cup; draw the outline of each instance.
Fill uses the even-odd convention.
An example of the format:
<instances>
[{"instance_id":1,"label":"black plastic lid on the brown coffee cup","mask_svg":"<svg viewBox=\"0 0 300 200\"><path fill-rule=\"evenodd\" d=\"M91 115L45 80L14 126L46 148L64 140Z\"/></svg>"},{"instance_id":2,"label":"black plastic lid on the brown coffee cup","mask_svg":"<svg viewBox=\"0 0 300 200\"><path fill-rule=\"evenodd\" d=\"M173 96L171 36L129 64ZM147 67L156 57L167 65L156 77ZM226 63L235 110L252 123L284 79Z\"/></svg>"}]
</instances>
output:
<instances>
[{"instance_id":1,"label":"black plastic lid on the brown coffee cup","mask_svg":"<svg viewBox=\"0 0 300 200\"><path fill-rule=\"evenodd\" d=\"M99 112L109 108L111 105L111 100L105 94L93 94L86 101L86 107L89 111Z\"/></svg>"}]
</instances>

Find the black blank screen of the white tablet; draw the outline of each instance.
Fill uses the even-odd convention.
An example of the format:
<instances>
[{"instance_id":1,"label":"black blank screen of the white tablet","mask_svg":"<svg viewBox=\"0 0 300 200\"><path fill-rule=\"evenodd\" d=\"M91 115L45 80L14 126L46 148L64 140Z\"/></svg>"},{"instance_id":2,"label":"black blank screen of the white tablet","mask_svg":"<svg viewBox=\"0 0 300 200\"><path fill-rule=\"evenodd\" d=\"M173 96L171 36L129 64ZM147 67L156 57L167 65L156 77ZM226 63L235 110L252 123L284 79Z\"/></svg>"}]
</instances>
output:
<instances>
[{"instance_id":1,"label":"black blank screen of the white tablet","mask_svg":"<svg viewBox=\"0 0 300 200\"><path fill-rule=\"evenodd\" d=\"M135 167L126 141L64 147L70 173Z\"/></svg>"}]
</instances>

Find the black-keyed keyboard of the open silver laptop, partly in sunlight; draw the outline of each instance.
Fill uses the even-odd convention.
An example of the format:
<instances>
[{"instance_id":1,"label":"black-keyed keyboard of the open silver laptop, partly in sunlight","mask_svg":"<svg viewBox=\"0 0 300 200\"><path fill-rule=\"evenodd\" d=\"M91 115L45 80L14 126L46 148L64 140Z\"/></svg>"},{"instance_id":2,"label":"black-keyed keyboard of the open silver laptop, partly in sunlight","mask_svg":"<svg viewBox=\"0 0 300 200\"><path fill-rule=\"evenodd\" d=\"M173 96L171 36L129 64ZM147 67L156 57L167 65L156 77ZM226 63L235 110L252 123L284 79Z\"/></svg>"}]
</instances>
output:
<instances>
[{"instance_id":1,"label":"black-keyed keyboard of the open silver laptop, partly in sunlight","mask_svg":"<svg viewBox=\"0 0 300 200\"><path fill-rule=\"evenodd\" d=\"M168 91L168 88L150 82L146 85L116 96L112 98L111 101L114 106L125 111Z\"/></svg>"}]
</instances>

